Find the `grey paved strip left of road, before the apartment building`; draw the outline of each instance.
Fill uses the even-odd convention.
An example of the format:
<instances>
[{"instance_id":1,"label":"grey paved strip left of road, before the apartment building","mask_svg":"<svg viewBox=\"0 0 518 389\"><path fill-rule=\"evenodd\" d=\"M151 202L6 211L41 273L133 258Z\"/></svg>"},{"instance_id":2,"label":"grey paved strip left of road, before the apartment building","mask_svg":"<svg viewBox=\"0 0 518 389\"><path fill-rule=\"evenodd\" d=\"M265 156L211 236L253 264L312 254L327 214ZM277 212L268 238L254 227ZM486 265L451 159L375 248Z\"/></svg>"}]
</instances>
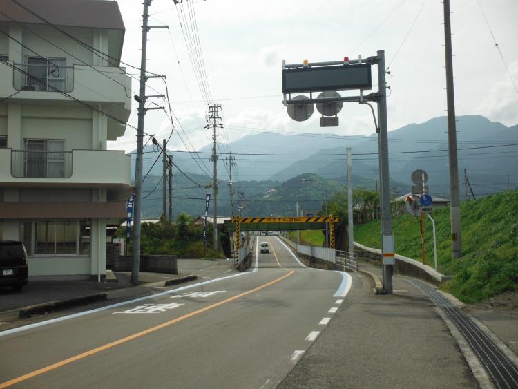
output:
<instances>
[{"instance_id":1,"label":"grey paved strip left of road, before the apartment building","mask_svg":"<svg viewBox=\"0 0 518 389\"><path fill-rule=\"evenodd\" d=\"M21 292L12 292L10 288L0 288L0 331L18 327L42 319L62 316L70 312L88 310L92 307L116 303L140 296L163 292L166 281L184 278L195 274L198 278L213 278L228 272L233 263L228 260L196 260L179 259L178 274L139 273L139 285L131 283L131 272L113 272L107 275L107 281L35 281L29 282ZM109 279L114 278L114 279ZM37 315L29 319L19 319L19 310L32 305L50 303L52 301L68 301L73 298L106 293L107 299L86 305L77 305L59 312Z\"/></svg>"}]
</instances>

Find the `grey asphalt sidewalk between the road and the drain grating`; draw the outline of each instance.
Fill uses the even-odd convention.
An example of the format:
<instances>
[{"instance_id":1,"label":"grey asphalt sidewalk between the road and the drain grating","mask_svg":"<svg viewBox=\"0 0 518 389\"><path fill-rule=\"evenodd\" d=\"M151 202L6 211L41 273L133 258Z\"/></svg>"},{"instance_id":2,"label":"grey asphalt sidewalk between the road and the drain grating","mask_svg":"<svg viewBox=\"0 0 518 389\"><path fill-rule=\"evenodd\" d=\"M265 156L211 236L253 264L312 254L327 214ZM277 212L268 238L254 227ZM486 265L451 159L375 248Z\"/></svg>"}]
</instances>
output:
<instances>
[{"instance_id":1,"label":"grey asphalt sidewalk between the road and the drain grating","mask_svg":"<svg viewBox=\"0 0 518 389\"><path fill-rule=\"evenodd\" d=\"M381 277L380 267L360 267ZM394 294L376 295L370 276L349 274L349 294L278 388L479 387L437 307L410 278L394 275ZM512 345L518 326L506 323L494 331Z\"/></svg>"}]
</instances>

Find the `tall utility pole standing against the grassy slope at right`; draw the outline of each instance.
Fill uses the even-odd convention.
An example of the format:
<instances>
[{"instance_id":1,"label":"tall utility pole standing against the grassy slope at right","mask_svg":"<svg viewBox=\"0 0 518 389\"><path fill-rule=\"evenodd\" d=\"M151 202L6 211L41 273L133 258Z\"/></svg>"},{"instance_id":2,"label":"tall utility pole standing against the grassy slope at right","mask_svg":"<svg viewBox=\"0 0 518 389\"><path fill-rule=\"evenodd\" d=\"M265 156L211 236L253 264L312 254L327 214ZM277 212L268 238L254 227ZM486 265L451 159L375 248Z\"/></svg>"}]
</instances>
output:
<instances>
[{"instance_id":1,"label":"tall utility pole standing against the grassy slope at right","mask_svg":"<svg viewBox=\"0 0 518 389\"><path fill-rule=\"evenodd\" d=\"M448 102L448 155L450 159L450 218L452 220L452 258L462 255L461 208L459 200L459 165L453 88L452 27L450 0L444 0L444 48L446 59L446 99Z\"/></svg>"}]
</instances>

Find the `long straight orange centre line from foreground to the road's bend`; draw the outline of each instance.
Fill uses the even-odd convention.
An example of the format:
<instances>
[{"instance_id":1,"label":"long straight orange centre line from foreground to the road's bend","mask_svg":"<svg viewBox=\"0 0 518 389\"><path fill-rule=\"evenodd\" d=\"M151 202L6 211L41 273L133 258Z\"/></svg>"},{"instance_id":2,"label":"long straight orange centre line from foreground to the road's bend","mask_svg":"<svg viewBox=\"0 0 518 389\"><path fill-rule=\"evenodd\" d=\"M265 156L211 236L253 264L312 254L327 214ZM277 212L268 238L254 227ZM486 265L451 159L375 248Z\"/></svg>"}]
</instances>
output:
<instances>
[{"instance_id":1,"label":"long straight orange centre line from foreground to the road's bend","mask_svg":"<svg viewBox=\"0 0 518 389\"><path fill-rule=\"evenodd\" d=\"M144 330L144 331L141 331L141 332L137 332L136 334L126 336L126 337L124 337L122 339L119 339L117 341L113 341L111 343L106 343L105 345L99 346L97 348L93 348L92 350L88 350L86 352L81 352L81 354L77 354L74 357L63 359L62 361L59 361L59 362L56 362L56 363L52 363L52 365L46 366L46 367L38 369L38 370L34 370L33 372L30 372L30 373L27 373L27 374L23 374L20 377L11 379L11 380L3 382L3 383L0 383L0 389L1 388L7 388L8 386L15 385L16 383L20 383L22 381L26 381L27 379L30 379L32 377L36 377L36 376L44 374L46 372L50 372L51 370L55 370L57 368L61 368L61 366L68 365L68 363L79 361L79 359L84 359L86 357L89 357L90 355L97 354L98 352L102 352L104 350L108 350L109 348L113 348L116 345L120 345L122 343L126 343L128 341L132 341L133 339L140 338L141 336L144 336L144 335L147 335L147 334L151 334L151 332L155 332L157 330L161 330L162 328L166 328L169 325L172 325L174 323L178 323L179 321L182 321L182 320L185 320L185 319L189 319L190 317L195 316L197 314L201 314L202 312L205 312L205 311L208 311L208 310L212 310L213 308L219 307L220 305L223 305L223 304L226 304L226 303L230 303L231 301L237 300L238 298L247 296L248 294L251 294L253 292L257 292L258 290L261 290L261 289L263 289L265 287L269 287L271 285L274 285L274 284L278 283L279 281L282 281L283 279L291 276L291 274L294 274L293 270L289 270L289 273L285 274L282 277L276 278L274 281L270 281L270 282L265 283L263 285L260 285L258 287L254 287L253 289L248 290L247 292L242 292L240 294L236 294L236 296L227 298L226 300L220 301L219 303L214 303L214 304L209 305L207 307L201 308L200 310L196 310L196 311L191 312L189 314L184 314L183 316L180 316L180 317L178 317L176 319L173 319L173 320L170 320L170 321L166 321L165 323L162 323L162 324L159 324L159 325L155 325L155 327L148 328L147 330Z\"/></svg>"}]
</instances>

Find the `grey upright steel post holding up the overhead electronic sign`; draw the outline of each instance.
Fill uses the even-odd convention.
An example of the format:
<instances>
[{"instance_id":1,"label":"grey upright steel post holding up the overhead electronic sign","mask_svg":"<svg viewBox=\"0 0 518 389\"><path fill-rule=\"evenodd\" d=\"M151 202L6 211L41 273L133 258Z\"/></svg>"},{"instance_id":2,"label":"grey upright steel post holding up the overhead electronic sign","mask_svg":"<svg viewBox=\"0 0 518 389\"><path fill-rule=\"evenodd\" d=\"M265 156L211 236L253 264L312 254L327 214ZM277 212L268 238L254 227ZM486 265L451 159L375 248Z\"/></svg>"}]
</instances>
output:
<instances>
[{"instance_id":1,"label":"grey upright steel post holding up the overhead electronic sign","mask_svg":"<svg viewBox=\"0 0 518 389\"><path fill-rule=\"evenodd\" d=\"M381 234L383 254L383 287L385 294L392 294L392 274L394 274L394 236L392 235L392 218L390 216L390 182L388 161L388 126L387 126L387 84L385 81L385 51L378 50L378 113L379 113L379 160L381 189Z\"/></svg>"}]
</instances>

